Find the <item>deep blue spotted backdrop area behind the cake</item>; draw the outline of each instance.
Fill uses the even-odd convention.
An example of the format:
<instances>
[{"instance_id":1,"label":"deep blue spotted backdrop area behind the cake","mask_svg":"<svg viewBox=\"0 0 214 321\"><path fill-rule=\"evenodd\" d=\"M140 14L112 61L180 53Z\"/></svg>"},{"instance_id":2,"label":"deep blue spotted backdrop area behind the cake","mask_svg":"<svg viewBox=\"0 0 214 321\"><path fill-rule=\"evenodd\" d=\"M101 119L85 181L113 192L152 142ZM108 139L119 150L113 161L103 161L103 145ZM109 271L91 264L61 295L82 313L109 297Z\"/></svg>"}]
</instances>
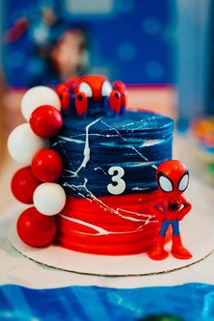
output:
<instances>
[{"instance_id":1,"label":"deep blue spotted backdrop area behind the cake","mask_svg":"<svg viewBox=\"0 0 214 321\"><path fill-rule=\"evenodd\" d=\"M81 25L88 34L90 72L105 73L125 83L174 82L175 13L170 0L117 0L112 2L110 12L100 15L69 15L63 0L55 1L62 4L58 7L65 24ZM23 15L27 15L32 24L36 24L36 19L38 23L39 5L43 3L6 1L5 30ZM24 34L15 44L5 46L5 71L11 85L28 83L25 69L30 60L30 44L29 34Z\"/></svg>"}]
</instances>

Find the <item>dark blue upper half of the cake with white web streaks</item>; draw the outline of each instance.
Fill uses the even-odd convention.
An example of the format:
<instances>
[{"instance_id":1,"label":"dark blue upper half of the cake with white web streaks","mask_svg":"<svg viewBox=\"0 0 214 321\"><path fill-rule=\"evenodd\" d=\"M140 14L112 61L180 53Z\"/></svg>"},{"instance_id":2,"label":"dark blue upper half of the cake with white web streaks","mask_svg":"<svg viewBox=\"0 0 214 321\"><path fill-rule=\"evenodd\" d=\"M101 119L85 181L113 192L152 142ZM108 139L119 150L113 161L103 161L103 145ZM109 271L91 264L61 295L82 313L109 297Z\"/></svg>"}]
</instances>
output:
<instances>
[{"instance_id":1,"label":"dark blue upper half of the cake with white web streaks","mask_svg":"<svg viewBox=\"0 0 214 321\"><path fill-rule=\"evenodd\" d=\"M63 158L67 195L100 197L156 190L155 172L171 159L173 121L151 112L78 119L64 115L51 148Z\"/></svg>"}]
</instances>

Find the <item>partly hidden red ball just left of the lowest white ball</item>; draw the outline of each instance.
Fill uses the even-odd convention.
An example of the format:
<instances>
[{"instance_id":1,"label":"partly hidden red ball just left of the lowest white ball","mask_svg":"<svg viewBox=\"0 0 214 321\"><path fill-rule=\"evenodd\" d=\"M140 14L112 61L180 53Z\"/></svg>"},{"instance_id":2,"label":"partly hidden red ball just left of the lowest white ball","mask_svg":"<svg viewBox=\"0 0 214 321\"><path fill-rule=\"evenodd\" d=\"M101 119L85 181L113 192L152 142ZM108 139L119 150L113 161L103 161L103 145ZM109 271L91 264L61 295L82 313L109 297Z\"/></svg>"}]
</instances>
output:
<instances>
[{"instance_id":1,"label":"partly hidden red ball just left of the lowest white ball","mask_svg":"<svg viewBox=\"0 0 214 321\"><path fill-rule=\"evenodd\" d=\"M15 199L25 204L33 204L34 190L39 184L41 181L36 180L30 166L28 166L16 171L11 181L11 190Z\"/></svg>"}]
</instances>

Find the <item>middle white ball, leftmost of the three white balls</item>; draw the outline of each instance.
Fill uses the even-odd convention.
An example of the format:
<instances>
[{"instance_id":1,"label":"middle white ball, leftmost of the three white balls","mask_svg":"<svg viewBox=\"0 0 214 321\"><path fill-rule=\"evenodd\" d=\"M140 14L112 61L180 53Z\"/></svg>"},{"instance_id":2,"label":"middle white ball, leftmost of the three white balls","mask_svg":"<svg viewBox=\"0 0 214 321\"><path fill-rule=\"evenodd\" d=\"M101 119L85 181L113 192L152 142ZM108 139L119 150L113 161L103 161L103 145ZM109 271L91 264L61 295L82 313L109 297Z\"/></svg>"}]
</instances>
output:
<instances>
[{"instance_id":1,"label":"middle white ball, leftmost of the three white balls","mask_svg":"<svg viewBox=\"0 0 214 321\"><path fill-rule=\"evenodd\" d=\"M7 148L11 157L21 164L30 165L34 155L48 147L48 141L36 136L29 123L15 127L7 140Z\"/></svg>"}]
</instances>

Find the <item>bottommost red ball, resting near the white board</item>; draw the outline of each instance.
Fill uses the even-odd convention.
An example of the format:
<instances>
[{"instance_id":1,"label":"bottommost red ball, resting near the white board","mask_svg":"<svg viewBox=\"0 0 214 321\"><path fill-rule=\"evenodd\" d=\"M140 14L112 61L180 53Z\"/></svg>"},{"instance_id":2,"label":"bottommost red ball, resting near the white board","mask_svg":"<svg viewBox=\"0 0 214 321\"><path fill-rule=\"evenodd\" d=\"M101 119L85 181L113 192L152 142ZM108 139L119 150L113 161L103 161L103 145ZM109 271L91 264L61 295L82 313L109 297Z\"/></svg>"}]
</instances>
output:
<instances>
[{"instance_id":1,"label":"bottommost red ball, resting near the white board","mask_svg":"<svg viewBox=\"0 0 214 321\"><path fill-rule=\"evenodd\" d=\"M17 220L19 238L30 247L41 248L49 245L56 233L56 219L45 216L34 207L25 209Z\"/></svg>"}]
</instances>

